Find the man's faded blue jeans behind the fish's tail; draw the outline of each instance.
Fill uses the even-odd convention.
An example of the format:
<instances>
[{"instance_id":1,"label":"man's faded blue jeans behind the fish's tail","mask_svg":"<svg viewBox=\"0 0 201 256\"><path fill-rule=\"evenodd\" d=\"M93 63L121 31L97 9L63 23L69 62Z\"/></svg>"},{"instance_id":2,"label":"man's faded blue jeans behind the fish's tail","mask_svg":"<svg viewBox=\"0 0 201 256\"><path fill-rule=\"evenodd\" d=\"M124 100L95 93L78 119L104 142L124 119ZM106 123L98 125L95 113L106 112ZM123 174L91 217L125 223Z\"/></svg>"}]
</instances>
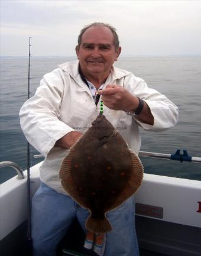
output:
<instances>
[{"instance_id":1,"label":"man's faded blue jeans behind the fish's tail","mask_svg":"<svg viewBox=\"0 0 201 256\"><path fill-rule=\"evenodd\" d=\"M113 230L106 234L104 256L139 256L135 232L135 206L130 197L119 208L107 213ZM89 211L70 197L41 183L32 202L32 238L34 256L55 256L57 244L74 218L83 230Z\"/></svg>"}]
</instances>

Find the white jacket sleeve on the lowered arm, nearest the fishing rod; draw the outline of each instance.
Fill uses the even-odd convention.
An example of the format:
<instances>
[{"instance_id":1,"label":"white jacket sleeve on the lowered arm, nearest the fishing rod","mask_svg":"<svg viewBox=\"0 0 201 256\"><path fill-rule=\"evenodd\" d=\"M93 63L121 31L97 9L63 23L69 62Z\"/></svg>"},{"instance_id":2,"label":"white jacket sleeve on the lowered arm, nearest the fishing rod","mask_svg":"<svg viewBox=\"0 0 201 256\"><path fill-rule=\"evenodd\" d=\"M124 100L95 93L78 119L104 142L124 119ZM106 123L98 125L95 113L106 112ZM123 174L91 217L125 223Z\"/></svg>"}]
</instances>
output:
<instances>
[{"instance_id":1,"label":"white jacket sleeve on the lowered arm, nearest the fishing rod","mask_svg":"<svg viewBox=\"0 0 201 256\"><path fill-rule=\"evenodd\" d=\"M57 140L74 131L59 119L63 92L63 72L56 69L43 77L35 95L20 109L22 131L28 142L44 157Z\"/></svg>"}]
</instances>

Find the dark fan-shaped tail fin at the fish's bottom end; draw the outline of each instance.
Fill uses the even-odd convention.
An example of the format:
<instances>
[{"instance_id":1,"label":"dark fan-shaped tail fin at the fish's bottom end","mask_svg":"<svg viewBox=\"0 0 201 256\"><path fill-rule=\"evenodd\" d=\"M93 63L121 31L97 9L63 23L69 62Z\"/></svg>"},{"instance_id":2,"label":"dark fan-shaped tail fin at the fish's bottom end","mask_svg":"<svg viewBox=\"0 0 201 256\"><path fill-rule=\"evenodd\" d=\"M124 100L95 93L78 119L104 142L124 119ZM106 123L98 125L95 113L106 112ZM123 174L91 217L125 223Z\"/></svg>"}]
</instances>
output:
<instances>
[{"instance_id":1,"label":"dark fan-shaped tail fin at the fish's bottom end","mask_svg":"<svg viewBox=\"0 0 201 256\"><path fill-rule=\"evenodd\" d=\"M85 226L89 231L95 233L105 233L112 231L111 223L109 223L108 218L106 218L105 215L102 219L96 219L90 215L86 220Z\"/></svg>"}]
</instances>

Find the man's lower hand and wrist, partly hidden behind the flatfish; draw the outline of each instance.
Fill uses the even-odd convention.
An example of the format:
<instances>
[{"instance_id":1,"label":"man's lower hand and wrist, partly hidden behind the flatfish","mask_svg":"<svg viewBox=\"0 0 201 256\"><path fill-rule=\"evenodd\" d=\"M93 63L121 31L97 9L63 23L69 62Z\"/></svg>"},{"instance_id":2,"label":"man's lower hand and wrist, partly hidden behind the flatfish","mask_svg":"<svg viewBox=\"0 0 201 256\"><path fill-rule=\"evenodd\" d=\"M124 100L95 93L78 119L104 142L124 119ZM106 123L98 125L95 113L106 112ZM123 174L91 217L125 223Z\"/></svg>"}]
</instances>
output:
<instances>
[{"instance_id":1,"label":"man's lower hand and wrist, partly hidden behind the flatfish","mask_svg":"<svg viewBox=\"0 0 201 256\"><path fill-rule=\"evenodd\" d=\"M82 135L82 132L69 132L68 134L57 140L55 146L60 148L70 148Z\"/></svg>"}]
</instances>

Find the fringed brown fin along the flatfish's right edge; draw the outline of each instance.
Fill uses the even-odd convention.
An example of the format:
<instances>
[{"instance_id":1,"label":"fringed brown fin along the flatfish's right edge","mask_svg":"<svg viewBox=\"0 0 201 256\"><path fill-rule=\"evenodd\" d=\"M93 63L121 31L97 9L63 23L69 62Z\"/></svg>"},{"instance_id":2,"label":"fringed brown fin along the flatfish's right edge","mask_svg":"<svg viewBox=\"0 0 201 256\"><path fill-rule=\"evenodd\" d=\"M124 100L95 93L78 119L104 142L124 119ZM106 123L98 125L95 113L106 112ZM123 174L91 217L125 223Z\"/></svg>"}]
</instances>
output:
<instances>
[{"instance_id":1,"label":"fringed brown fin along the flatfish's right edge","mask_svg":"<svg viewBox=\"0 0 201 256\"><path fill-rule=\"evenodd\" d=\"M132 160L131 177L128 180L127 186L116 198L115 202L111 205L111 207L107 209L107 212L121 205L125 200L127 200L129 197L134 195L134 193L136 193L141 186L141 183L143 180L144 168L142 166L141 160L138 157L138 155L135 154L134 151L132 151L131 149L129 149L129 151L130 151L131 160Z\"/></svg>"}]
</instances>

